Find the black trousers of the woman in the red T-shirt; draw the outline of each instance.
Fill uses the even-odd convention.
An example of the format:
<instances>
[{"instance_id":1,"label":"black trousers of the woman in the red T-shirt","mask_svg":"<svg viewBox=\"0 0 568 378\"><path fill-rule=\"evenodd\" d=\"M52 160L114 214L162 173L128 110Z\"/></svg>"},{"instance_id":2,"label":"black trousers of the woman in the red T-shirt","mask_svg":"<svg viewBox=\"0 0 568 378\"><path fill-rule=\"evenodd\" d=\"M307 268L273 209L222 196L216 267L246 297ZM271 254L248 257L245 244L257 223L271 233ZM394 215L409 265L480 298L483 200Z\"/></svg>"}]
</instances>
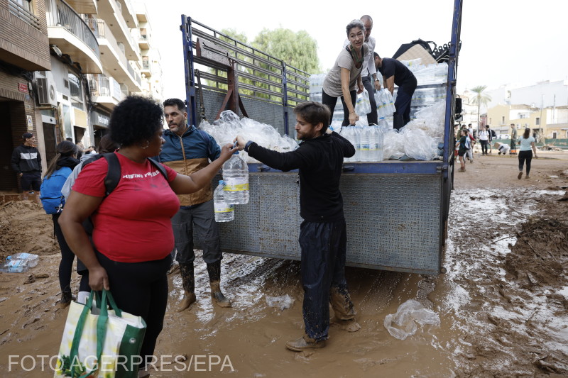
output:
<instances>
[{"instance_id":1,"label":"black trousers of the woman in the red T-shirt","mask_svg":"<svg viewBox=\"0 0 568 378\"><path fill-rule=\"evenodd\" d=\"M168 304L168 276L172 257L145 262L116 262L96 251L99 263L107 270L112 296L122 311L142 316L146 335L140 355L141 368L151 362L156 340L163 328Z\"/></svg>"}]
</instances>

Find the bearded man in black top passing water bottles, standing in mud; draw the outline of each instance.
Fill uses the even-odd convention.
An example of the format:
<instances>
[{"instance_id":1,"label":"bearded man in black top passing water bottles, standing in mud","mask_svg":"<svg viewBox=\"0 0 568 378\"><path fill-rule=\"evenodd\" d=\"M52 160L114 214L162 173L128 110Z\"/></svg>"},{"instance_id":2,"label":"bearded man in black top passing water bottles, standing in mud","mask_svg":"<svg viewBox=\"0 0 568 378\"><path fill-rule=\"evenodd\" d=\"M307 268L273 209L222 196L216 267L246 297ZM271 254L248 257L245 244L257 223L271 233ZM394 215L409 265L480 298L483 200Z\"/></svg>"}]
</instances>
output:
<instances>
[{"instance_id":1,"label":"bearded man in black top passing water bottles, standing in mud","mask_svg":"<svg viewBox=\"0 0 568 378\"><path fill-rule=\"evenodd\" d=\"M338 133L328 130L330 112L317 102L295 107L295 130L302 140L290 152L276 152L240 135L239 150L269 167L290 171L299 169L300 176L300 248L302 250L302 286L305 335L286 343L286 348L301 351L323 348L328 338L329 304L338 321L358 330L345 280L347 233L343 213L343 197L339 191L344 157L355 154L355 148Z\"/></svg>"}]
</instances>

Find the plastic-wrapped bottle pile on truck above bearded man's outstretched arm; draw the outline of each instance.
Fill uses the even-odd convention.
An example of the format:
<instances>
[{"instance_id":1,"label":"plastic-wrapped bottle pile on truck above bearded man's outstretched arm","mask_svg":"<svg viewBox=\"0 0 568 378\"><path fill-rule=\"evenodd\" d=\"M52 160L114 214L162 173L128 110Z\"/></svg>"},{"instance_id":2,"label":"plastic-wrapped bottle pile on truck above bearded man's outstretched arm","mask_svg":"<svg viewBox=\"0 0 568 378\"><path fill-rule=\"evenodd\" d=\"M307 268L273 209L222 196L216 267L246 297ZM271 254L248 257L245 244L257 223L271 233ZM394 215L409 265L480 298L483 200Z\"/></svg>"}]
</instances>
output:
<instances>
[{"instance_id":1,"label":"plastic-wrapped bottle pile on truck above bearded man's outstretched arm","mask_svg":"<svg viewBox=\"0 0 568 378\"><path fill-rule=\"evenodd\" d=\"M254 140L258 145L278 152L293 151L298 146L293 138L280 135L273 126L251 118L241 119L230 110L223 111L213 123L202 121L199 128L215 138L219 145L233 143L236 135L242 135L245 140ZM257 162L246 152L240 153L246 162Z\"/></svg>"}]
</instances>

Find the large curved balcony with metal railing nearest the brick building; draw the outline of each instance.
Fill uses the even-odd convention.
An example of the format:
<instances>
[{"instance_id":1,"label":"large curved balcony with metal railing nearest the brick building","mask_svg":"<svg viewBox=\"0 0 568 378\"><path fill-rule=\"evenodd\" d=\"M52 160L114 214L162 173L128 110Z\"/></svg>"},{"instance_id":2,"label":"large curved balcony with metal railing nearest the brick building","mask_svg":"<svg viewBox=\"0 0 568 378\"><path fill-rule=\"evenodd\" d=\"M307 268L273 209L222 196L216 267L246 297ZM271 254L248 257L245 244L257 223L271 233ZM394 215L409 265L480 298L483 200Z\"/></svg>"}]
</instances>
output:
<instances>
[{"instance_id":1,"label":"large curved balcony with metal railing nearest the brick building","mask_svg":"<svg viewBox=\"0 0 568 378\"><path fill-rule=\"evenodd\" d=\"M102 73L97 29L92 29L65 1L45 1L50 45L78 62L85 73Z\"/></svg>"}]
</instances>

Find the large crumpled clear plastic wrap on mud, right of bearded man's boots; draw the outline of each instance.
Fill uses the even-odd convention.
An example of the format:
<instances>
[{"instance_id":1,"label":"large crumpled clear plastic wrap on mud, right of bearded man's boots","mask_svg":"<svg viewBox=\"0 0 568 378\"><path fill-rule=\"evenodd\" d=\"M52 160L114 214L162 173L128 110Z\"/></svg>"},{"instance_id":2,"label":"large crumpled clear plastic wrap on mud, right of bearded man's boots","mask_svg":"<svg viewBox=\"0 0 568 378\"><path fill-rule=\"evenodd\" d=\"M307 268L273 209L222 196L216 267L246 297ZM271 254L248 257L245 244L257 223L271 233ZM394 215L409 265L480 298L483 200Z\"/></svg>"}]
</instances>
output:
<instances>
[{"instance_id":1,"label":"large crumpled clear plastic wrap on mud, right of bearded man's boots","mask_svg":"<svg viewBox=\"0 0 568 378\"><path fill-rule=\"evenodd\" d=\"M424 308L420 302L409 299L398 307L396 313L389 313L385 317L384 325L391 336L405 340L416 333L418 328L416 323L420 323L421 326L425 324L439 326L439 316L434 311Z\"/></svg>"}]
</instances>

